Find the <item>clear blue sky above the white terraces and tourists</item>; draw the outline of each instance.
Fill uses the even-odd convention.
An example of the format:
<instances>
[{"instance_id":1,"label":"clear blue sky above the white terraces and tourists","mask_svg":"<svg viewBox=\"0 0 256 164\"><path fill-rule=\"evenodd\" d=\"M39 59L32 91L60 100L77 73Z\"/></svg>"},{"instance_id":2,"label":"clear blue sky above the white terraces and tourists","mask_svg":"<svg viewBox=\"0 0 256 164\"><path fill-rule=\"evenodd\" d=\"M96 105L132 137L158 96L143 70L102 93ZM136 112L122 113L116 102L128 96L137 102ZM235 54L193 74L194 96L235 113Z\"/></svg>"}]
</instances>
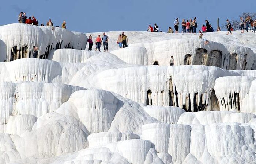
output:
<instances>
[{"instance_id":1,"label":"clear blue sky above the white terraces and tourists","mask_svg":"<svg viewBox=\"0 0 256 164\"><path fill-rule=\"evenodd\" d=\"M174 19L197 17L198 26L209 20L216 29L226 19L239 19L242 12L256 12L254 0L2 0L1 25L17 23L18 14L34 15L39 24L52 19L54 26L79 32L144 31L157 23L166 32Z\"/></svg>"}]
</instances>

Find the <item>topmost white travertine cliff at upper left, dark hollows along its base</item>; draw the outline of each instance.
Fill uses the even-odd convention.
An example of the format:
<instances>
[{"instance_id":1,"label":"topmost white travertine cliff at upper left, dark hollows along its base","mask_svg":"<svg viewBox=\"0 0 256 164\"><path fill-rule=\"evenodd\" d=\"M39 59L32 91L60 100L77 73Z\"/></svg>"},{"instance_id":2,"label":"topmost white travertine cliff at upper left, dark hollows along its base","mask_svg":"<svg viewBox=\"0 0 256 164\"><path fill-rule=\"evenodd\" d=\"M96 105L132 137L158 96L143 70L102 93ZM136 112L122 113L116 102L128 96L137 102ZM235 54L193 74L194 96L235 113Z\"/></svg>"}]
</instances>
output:
<instances>
[{"instance_id":1,"label":"topmost white travertine cliff at upper left, dark hollows along its base","mask_svg":"<svg viewBox=\"0 0 256 164\"><path fill-rule=\"evenodd\" d=\"M84 50L87 43L86 35L58 27L8 24L0 27L0 33L1 61L32 58L33 46L39 48L37 58L46 59L54 49Z\"/></svg>"}]
</instances>

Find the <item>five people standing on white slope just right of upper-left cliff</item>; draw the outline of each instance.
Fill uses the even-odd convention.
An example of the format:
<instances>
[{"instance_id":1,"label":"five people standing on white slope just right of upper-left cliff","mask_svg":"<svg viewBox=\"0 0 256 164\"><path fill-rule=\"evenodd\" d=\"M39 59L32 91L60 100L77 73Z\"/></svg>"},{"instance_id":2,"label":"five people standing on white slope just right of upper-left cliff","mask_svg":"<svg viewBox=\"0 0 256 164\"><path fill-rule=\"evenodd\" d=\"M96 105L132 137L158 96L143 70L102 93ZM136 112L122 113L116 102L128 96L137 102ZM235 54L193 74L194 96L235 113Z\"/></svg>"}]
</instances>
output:
<instances>
[{"instance_id":1,"label":"five people standing on white slope just right of upper-left cliff","mask_svg":"<svg viewBox=\"0 0 256 164\"><path fill-rule=\"evenodd\" d=\"M106 52L106 51L108 52L108 40L109 40L109 37L106 35L105 32L103 33L102 38L101 38L101 35L98 35L95 40L95 44L96 44L95 51L97 51L97 50L99 52L101 51L101 45L102 45L102 41L103 41L104 52ZM93 48L93 38L91 35L89 36L89 39L87 40L87 42L89 43L88 51L91 51ZM125 47L127 47L127 43L128 43L128 38L124 34L124 32L122 32L122 35L121 34L118 35L117 44L119 45L119 48L125 48Z\"/></svg>"}]
</instances>

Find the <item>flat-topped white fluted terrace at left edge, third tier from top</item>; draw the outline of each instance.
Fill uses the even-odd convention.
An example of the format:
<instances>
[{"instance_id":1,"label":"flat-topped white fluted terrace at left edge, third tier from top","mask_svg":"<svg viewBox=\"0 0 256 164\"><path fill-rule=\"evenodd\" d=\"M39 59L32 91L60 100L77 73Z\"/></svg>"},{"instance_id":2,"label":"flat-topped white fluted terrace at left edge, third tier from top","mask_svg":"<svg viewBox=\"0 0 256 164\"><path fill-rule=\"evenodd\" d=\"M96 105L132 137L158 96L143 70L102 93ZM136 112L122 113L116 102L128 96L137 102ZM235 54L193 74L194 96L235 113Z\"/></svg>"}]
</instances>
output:
<instances>
[{"instance_id":1,"label":"flat-topped white fluted terrace at left edge, third tier from top","mask_svg":"<svg viewBox=\"0 0 256 164\"><path fill-rule=\"evenodd\" d=\"M1 82L0 88L0 125L7 124L10 116L30 114L40 117L48 112L54 112L61 104L68 101L73 92L84 89L64 84L36 82ZM19 116L11 118L9 121L18 121L16 119L19 119ZM19 123L16 124L22 124L25 121L23 118L20 119ZM19 131L22 129L17 130L17 133L20 133Z\"/></svg>"}]
</instances>

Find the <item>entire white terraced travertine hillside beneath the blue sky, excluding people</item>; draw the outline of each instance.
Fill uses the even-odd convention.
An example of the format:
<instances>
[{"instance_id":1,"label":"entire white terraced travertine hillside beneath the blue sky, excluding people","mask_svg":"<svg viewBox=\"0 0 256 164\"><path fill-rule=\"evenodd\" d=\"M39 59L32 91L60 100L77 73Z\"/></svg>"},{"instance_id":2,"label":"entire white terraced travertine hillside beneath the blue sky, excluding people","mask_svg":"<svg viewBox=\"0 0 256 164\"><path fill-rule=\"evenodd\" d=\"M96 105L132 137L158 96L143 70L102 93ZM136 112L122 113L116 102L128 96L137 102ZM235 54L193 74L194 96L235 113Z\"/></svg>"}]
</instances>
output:
<instances>
[{"instance_id":1,"label":"entire white terraced travertine hillside beneath the blue sky, excluding people","mask_svg":"<svg viewBox=\"0 0 256 164\"><path fill-rule=\"evenodd\" d=\"M252 32L102 33L0 26L1 164L256 163Z\"/></svg>"}]
</instances>

